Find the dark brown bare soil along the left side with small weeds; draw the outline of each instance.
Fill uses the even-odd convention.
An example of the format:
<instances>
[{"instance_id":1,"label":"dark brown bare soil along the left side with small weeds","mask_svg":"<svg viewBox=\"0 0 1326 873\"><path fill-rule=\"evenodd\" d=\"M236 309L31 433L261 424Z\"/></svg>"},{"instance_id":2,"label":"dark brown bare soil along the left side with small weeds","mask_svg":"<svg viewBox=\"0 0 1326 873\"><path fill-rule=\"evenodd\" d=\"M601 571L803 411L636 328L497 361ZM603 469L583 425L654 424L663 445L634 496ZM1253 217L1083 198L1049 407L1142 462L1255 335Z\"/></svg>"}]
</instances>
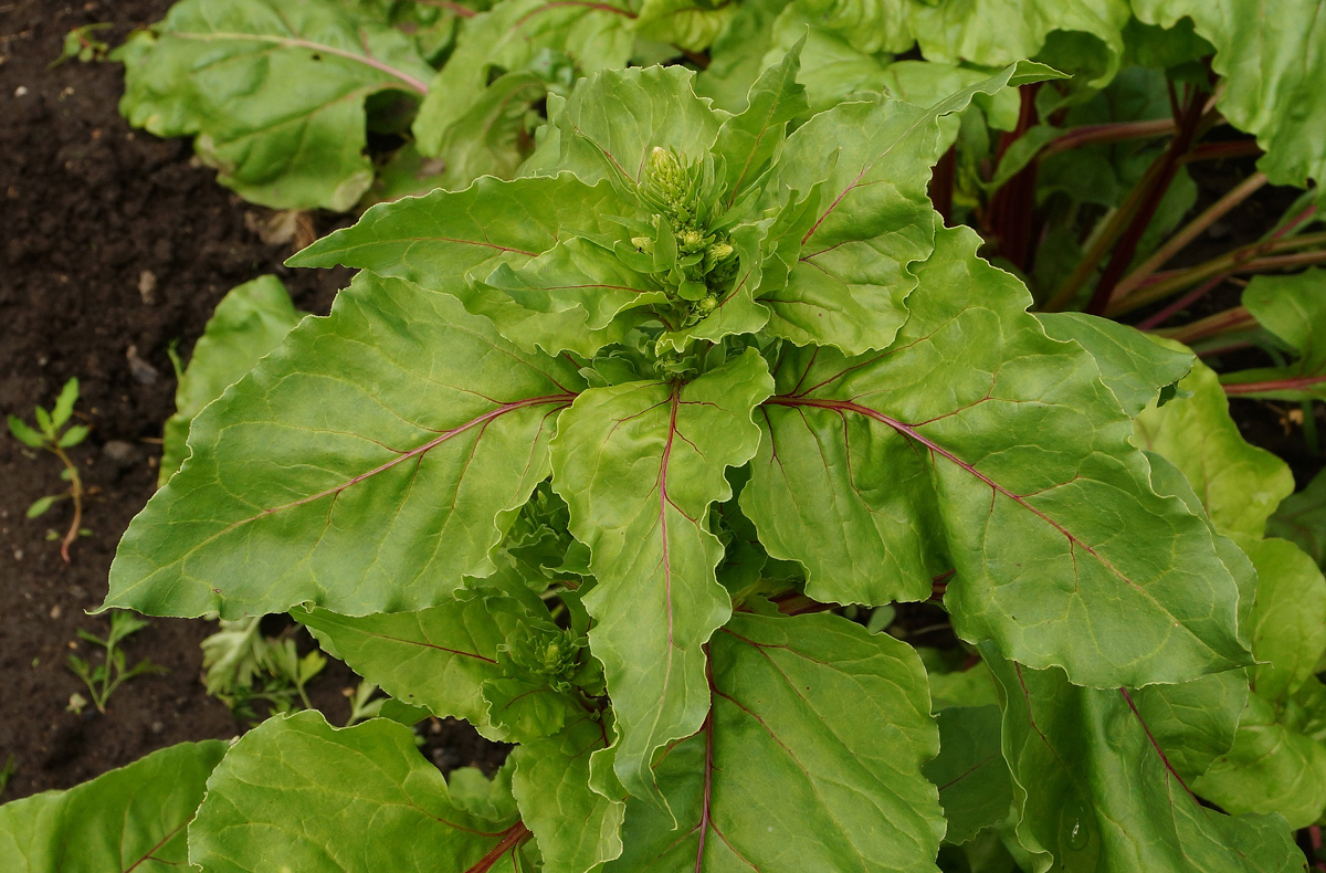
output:
<instances>
[{"instance_id":1,"label":"dark brown bare soil along the left side with small weeds","mask_svg":"<svg viewBox=\"0 0 1326 873\"><path fill-rule=\"evenodd\" d=\"M72 694L88 694L65 661L91 654L78 629L105 634L107 620L84 610L101 602L115 543L155 487L155 440L174 411L170 344L179 341L187 360L221 296L263 273L281 276L296 305L314 312L347 280L281 267L289 245L264 244L247 227L265 211L216 184L190 143L131 131L117 113L118 65L48 69L70 29L111 21L101 36L114 45L168 7L0 0L0 413L30 419L33 405L49 406L78 377L78 410L93 429L72 451L91 490L91 535L74 543L68 565L46 540L68 527L68 508L24 517L33 500L64 488L60 462L0 436L0 767L11 756L17 767L0 800L247 727L199 682L210 622L156 618L131 637L130 662L150 658L168 673L122 686L106 715L66 711ZM333 663L314 681L314 705L343 722L342 689L355 683ZM501 759L463 726L439 722L428 739L446 768Z\"/></svg>"}]
</instances>

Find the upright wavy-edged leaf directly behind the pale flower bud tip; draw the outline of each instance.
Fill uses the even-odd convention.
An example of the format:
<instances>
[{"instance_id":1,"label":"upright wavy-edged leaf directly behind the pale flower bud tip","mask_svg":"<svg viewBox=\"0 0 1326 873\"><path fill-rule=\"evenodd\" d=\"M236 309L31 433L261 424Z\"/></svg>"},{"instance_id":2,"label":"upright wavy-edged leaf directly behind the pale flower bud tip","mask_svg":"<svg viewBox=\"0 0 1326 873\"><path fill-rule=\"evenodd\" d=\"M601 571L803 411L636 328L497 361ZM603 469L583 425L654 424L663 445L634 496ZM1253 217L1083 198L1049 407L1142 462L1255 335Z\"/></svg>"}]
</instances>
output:
<instances>
[{"instance_id":1,"label":"upright wavy-edged leaf directly behind the pale flower bud tip","mask_svg":"<svg viewBox=\"0 0 1326 873\"><path fill-rule=\"evenodd\" d=\"M595 73L582 81L560 111L549 105L556 149L541 147L522 175L572 171L586 183L610 179L629 196L654 149L695 161L713 147L721 118L695 96L695 73L682 66L646 66Z\"/></svg>"}]
</instances>

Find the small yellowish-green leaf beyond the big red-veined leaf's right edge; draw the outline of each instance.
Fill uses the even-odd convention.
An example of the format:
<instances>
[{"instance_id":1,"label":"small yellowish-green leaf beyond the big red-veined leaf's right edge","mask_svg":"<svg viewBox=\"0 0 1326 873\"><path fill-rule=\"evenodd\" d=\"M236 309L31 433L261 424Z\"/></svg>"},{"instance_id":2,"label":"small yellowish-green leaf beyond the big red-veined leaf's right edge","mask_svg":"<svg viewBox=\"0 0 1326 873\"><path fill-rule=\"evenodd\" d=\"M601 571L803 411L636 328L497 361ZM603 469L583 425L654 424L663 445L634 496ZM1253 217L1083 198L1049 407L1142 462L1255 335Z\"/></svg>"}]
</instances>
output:
<instances>
[{"instance_id":1,"label":"small yellowish-green leaf beyond the big red-veined leaf's right edge","mask_svg":"<svg viewBox=\"0 0 1326 873\"><path fill-rule=\"evenodd\" d=\"M1266 517L1294 490L1289 466L1244 440L1205 364L1197 361L1179 387L1192 397L1159 409L1152 402L1134 425L1135 442L1183 471L1217 531L1261 536Z\"/></svg>"}]
</instances>

